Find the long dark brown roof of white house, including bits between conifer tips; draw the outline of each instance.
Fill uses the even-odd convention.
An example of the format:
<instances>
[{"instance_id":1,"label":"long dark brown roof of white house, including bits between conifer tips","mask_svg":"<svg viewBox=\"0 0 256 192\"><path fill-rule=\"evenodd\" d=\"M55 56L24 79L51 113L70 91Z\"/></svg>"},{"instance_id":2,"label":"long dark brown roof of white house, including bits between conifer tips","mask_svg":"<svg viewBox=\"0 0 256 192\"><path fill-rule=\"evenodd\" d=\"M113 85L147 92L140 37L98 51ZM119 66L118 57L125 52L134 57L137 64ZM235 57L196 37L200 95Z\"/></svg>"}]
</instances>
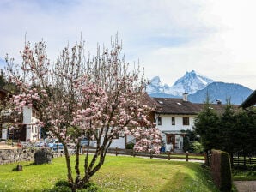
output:
<instances>
[{"instance_id":1,"label":"long dark brown roof of white house, including bits between conifer tips","mask_svg":"<svg viewBox=\"0 0 256 192\"><path fill-rule=\"evenodd\" d=\"M177 98L153 98L158 103L156 106L156 113L161 114L176 114L176 115L197 115L200 111L204 110L205 104L196 104L183 99ZM236 110L239 105L232 105ZM223 113L226 105L210 104L217 113Z\"/></svg>"}]
</instances>

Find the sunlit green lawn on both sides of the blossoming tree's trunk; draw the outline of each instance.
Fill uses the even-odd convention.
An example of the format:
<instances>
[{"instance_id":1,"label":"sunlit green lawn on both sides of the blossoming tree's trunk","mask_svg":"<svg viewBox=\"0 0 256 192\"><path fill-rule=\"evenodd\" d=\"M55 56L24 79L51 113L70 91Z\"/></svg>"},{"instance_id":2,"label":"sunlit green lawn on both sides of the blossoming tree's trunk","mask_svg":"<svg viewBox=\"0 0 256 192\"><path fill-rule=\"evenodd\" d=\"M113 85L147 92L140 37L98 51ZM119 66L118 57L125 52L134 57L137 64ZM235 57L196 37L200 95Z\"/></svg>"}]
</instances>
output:
<instances>
[{"instance_id":1,"label":"sunlit green lawn on both sides of the blossoming tree's trunk","mask_svg":"<svg viewBox=\"0 0 256 192\"><path fill-rule=\"evenodd\" d=\"M75 159L71 159L75 162ZM22 162L23 171L12 171L17 164L0 165L0 191L41 191L66 179L64 158L51 165ZM92 181L103 191L218 191L210 174L198 163L157 159L107 156Z\"/></svg>"}]
</instances>

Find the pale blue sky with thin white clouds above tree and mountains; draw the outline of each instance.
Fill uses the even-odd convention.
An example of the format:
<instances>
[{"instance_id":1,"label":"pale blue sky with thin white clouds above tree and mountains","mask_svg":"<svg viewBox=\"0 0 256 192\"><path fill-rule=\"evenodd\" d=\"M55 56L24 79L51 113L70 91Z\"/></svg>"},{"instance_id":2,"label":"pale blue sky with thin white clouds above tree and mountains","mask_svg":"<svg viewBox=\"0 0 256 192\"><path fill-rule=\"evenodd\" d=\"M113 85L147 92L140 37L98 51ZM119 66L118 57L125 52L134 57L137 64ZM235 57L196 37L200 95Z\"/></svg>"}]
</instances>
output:
<instances>
[{"instance_id":1,"label":"pale blue sky with thin white clouds above tree and mountains","mask_svg":"<svg viewBox=\"0 0 256 192\"><path fill-rule=\"evenodd\" d=\"M127 62L163 83L192 69L215 81L256 89L254 0L1 0L0 66L21 61L25 34L44 39L48 56L82 33L87 51L119 33Z\"/></svg>"}]
</instances>

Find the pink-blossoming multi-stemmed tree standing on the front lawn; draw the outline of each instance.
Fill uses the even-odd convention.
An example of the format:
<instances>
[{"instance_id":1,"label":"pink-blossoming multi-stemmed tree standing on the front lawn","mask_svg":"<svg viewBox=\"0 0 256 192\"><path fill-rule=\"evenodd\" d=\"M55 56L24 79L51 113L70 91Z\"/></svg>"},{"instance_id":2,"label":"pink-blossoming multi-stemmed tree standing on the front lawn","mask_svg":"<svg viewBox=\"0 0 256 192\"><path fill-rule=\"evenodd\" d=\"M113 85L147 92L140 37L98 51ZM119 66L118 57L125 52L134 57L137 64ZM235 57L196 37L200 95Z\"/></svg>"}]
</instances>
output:
<instances>
[{"instance_id":1,"label":"pink-blossoming multi-stemmed tree standing on the front lawn","mask_svg":"<svg viewBox=\"0 0 256 192\"><path fill-rule=\"evenodd\" d=\"M84 59L84 44L65 47L55 63L46 56L46 44L34 48L27 43L21 51L22 63L7 58L9 79L19 87L13 96L15 111L35 105L40 124L64 145L68 181L75 191L82 189L103 165L107 149L118 135L133 135L135 150L159 152L160 132L147 120L151 110L143 105L145 81L139 68L129 70L120 57L118 39L110 50L100 47L95 57ZM81 140L96 143L95 153L85 153L83 170ZM69 143L76 144L75 177L70 165Z\"/></svg>"}]
</instances>

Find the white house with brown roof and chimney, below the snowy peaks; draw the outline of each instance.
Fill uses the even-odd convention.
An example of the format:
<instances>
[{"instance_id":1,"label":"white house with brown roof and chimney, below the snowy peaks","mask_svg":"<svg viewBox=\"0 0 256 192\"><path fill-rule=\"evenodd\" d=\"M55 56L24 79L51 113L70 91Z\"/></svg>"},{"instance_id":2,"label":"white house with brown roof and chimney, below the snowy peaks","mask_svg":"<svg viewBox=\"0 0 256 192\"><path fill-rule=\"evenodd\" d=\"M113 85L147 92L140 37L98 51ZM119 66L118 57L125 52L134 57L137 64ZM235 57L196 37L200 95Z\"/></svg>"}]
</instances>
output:
<instances>
[{"instance_id":1,"label":"white house with brown roof and chimney, below the snowy peaks","mask_svg":"<svg viewBox=\"0 0 256 192\"><path fill-rule=\"evenodd\" d=\"M192 130L194 118L202 109L199 105L178 98L153 98L157 102L155 123L162 131L162 141L166 151L183 149L185 130Z\"/></svg>"}]
</instances>

